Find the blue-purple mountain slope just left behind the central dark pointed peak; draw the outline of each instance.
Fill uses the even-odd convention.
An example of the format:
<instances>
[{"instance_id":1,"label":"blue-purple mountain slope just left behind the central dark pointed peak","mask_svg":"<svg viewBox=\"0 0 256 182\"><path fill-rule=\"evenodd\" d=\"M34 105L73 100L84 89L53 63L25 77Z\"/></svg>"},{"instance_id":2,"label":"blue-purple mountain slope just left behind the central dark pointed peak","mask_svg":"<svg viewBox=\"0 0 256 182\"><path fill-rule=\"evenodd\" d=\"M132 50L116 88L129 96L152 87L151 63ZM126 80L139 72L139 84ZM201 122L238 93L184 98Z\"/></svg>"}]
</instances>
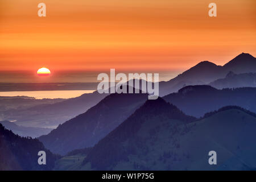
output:
<instances>
[{"instance_id":1,"label":"blue-purple mountain slope just left behind the central dark pointed peak","mask_svg":"<svg viewBox=\"0 0 256 182\"><path fill-rule=\"evenodd\" d=\"M123 122L144 101L147 94L110 94L85 113L59 125L39 140L51 151L58 154L91 147ZM72 135L68 137L65 133Z\"/></svg>"}]
</instances>

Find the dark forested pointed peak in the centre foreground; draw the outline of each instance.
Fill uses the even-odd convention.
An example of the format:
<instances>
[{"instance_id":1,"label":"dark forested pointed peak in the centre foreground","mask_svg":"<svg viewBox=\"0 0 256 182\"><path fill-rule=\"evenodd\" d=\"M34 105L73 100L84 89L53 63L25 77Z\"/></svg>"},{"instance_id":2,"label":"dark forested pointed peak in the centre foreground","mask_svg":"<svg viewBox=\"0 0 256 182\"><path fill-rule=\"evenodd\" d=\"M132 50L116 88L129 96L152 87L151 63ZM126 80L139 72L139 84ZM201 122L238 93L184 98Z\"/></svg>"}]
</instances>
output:
<instances>
[{"instance_id":1,"label":"dark forested pointed peak in the centre foreground","mask_svg":"<svg viewBox=\"0 0 256 182\"><path fill-rule=\"evenodd\" d=\"M96 170L109 170L118 161L127 161L129 155L145 155L148 146L159 143L156 139L162 138L163 133L170 136L170 132L178 125L195 120L196 118L185 115L163 98L147 100L134 114L100 140L86 156L82 165L90 163ZM163 130L160 130L162 127ZM156 133L159 135L154 138ZM168 139L168 137L164 138ZM150 145L145 144L148 141Z\"/></svg>"}]
</instances>

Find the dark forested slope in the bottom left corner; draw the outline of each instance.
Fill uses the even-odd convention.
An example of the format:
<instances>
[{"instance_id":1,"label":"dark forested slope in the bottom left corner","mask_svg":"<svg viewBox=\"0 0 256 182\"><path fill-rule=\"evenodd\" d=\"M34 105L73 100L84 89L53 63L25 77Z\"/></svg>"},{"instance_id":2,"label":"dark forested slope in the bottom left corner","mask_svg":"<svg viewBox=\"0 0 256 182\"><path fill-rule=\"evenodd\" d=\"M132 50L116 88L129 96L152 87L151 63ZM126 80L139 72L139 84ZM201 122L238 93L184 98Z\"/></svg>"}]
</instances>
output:
<instances>
[{"instance_id":1,"label":"dark forested slope in the bottom left corner","mask_svg":"<svg viewBox=\"0 0 256 182\"><path fill-rule=\"evenodd\" d=\"M46 165L38 164L38 152L46 152ZM51 170L58 155L31 137L20 137L0 124L0 170Z\"/></svg>"}]
</instances>

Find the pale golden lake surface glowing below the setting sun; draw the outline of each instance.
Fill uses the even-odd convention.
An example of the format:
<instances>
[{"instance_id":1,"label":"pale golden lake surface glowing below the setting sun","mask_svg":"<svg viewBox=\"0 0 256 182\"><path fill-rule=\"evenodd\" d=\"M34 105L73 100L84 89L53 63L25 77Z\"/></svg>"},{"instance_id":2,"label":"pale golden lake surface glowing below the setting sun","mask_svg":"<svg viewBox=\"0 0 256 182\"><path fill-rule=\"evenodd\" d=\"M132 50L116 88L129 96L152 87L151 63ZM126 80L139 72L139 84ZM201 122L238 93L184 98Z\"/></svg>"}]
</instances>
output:
<instances>
[{"instance_id":1,"label":"pale golden lake surface glowing below the setting sun","mask_svg":"<svg viewBox=\"0 0 256 182\"><path fill-rule=\"evenodd\" d=\"M36 99L42 98L73 98L79 97L84 93L92 93L95 90L49 90L49 91L15 91L0 92L0 96L28 96Z\"/></svg>"}]
</instances>

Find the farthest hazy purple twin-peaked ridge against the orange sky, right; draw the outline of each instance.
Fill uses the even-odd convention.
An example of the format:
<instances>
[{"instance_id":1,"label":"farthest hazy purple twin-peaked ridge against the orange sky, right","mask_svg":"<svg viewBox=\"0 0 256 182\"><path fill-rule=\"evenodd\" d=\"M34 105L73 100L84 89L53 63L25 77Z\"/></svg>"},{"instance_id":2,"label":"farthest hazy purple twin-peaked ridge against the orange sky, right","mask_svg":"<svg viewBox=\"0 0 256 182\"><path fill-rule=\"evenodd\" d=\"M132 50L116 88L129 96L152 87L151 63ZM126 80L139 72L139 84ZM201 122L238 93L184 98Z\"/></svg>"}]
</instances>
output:
<instances>
[{"instance_id":1,"label":"farthest hazy purple twin-peaked ridge against the orange sky, right","mask_svg":"<svg viewBox=\"0 0 256 182\"><path fill-rule=\"evenodd\" d=\"M216 65L209 61L201 61L169 81L159 82L160 96L177 92L187 85L205 85L224 78L230 71L240 73L256 73L256 58L249 53L241 53L225 65Z\"/></svg>"}]
</instances>

